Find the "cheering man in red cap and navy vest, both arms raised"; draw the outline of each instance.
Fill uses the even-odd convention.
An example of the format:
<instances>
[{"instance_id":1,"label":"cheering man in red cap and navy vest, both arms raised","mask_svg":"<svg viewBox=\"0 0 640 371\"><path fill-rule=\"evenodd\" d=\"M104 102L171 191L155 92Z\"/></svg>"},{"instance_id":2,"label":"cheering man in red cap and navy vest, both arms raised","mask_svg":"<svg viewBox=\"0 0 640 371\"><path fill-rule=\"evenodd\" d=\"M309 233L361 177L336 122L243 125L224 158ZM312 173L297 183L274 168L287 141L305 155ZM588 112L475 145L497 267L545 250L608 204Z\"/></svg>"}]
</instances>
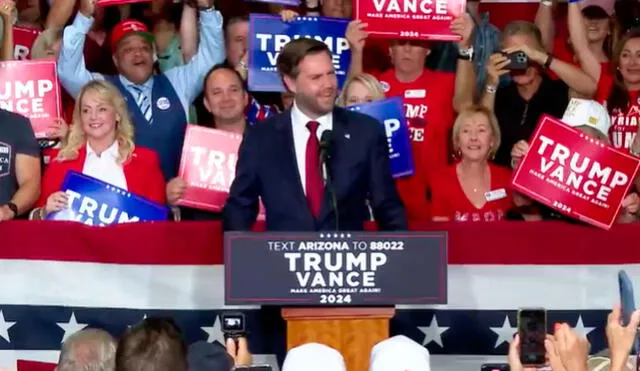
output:
<instances>
[{"instance_id":1,"label":"cheering man in red cap and navy vest, both arms raised","mask_svg":"<svg viewBox=\"0 0 640 371\"><path fill-rule=\"evenodd\" d=\"M111 50L118 75L87 71L82 54L93 23L96 0L81 0L80 11L64 30L58 57L60 82L76 97L93 79L106 79L127 101L135 127L136 145L158 152L165 179L178 173L189 106L202 91L202 81L212 65L224 60L222 15L212 0L197 0L200 36L196 55L189 63L153 74L153 34L139 21L127 19L111 31Z\"/></svg>"}]
</instances>

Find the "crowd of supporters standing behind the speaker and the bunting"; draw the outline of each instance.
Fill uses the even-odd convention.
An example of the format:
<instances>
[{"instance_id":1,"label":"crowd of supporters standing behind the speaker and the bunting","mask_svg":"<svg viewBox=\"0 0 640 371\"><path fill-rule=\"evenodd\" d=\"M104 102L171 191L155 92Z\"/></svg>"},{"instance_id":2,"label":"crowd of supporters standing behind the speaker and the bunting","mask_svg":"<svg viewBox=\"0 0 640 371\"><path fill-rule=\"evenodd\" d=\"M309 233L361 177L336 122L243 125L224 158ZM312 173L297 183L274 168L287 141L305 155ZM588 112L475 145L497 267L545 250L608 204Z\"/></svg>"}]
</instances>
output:
<instances>
[{"instance_id":1,"label":"crowd of supporters standing behind the speaker and the bunting","mask_svg":"<svg viewBox=\"0 0 640 371\"><path fill-rule=\"evenodd\" d=\"M27 121L2 113L11 125L4 125L1 138L11 151L4 158L8 176L0 177L0 220L44 219L64 208L59 187L68 170L170 205L176 219L220 219L219 212L177 206L187 189L177 176L187 123L242 134L296 105L289 91L247 91L245 10L276 12L287 21L302 12L350 18L347 3L293 10L208 0L115 7L95 0L55 0L53 7L5 1L5 26L42 30L31 57L57 60L64 115L52 122L47 140L36 142ZM540 3L535 23L513 21L499 31L477 5L469 2L452 21L457 43L372 39L366 24L351 21L348 80L335 104L403 97L414 173L395 185L407 219L564 219L511 192L511 172L540 117L563 118L570 99L605 107L591 135L640 153L640 33L619 13L580 1L568 4L568 35L556 35L553 1ZM238 8L246 9L239 14ZM4 34L3 56L10 59L13 40L11 32ZM514 52L526 56L524 68L510 68L507 56ZM639 210L633 187L618 221L637 221Z\"/></svg>"}]
</instances>

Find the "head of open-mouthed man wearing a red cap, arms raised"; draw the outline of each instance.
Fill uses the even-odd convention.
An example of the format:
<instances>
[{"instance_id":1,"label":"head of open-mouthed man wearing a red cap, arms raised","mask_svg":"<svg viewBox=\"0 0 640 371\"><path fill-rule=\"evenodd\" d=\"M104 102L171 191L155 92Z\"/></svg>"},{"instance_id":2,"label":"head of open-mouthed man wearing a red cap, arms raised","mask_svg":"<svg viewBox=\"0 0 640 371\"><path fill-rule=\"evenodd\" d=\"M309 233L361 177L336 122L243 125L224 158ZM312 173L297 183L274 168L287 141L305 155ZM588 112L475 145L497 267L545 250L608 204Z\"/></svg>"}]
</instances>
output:
<instances>
[{"instance_id":1,"label":"head of open-mouthed man wearing a red cap, arms raised","mask_svg":"<svg viewBox=\"0 0 640 371\"><path fill-rule=\"evenodd\" d=\"M113 63L134 84L142 84L153 73L153 34L139 21L127 19L111 31Z\"/></svg>"}]
</instances>

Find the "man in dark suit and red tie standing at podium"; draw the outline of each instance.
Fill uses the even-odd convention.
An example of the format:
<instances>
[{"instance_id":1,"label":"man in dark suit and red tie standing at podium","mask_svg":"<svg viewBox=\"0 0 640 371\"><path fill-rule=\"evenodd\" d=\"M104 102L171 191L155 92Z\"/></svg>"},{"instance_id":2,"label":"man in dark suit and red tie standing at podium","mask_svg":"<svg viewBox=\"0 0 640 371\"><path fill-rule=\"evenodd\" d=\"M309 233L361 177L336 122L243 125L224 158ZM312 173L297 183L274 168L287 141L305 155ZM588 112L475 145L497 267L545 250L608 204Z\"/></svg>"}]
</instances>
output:
<instances>
[{"instance_id":1,"label":"man in dark suit and red tie standing at podium","mask_svg":"<svg viewBox=\"0 0 640 371\"><path fill-rule=\"evenodd\" d=\"M327 46L291 41L277 66L294 105L248 130L224 208L225 230L250 229L259 198L268 230L362 230L367 200L380 229L407 229L383 128L369 116L335 107L337 79ZM321 139L330 158L326 171Z\"/></svg>"}]
</instances>

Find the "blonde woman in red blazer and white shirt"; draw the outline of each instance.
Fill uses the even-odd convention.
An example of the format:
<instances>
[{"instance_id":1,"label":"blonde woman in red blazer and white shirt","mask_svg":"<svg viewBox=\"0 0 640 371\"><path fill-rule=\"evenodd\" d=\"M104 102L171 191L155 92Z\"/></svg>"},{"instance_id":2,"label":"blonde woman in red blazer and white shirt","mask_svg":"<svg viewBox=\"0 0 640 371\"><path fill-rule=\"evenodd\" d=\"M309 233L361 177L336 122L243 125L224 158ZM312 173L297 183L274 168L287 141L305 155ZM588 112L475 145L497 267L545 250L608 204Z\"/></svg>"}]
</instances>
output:
<instances>
[{"instance_id":1,"label":"blonde woman in red blazer and white shirt","mask_svg":"<svg viewBox=\"0 0 640 371\"><path fill-rule=\"evenodd\" d=\"M124 98L115 86L92 80L82 88L67 141L45 171L35 218L44 219L67 207L68 197L60 186L71 170L165 203L158 156L134 146L129 117Z\"/></svg>"}]
</instances>

